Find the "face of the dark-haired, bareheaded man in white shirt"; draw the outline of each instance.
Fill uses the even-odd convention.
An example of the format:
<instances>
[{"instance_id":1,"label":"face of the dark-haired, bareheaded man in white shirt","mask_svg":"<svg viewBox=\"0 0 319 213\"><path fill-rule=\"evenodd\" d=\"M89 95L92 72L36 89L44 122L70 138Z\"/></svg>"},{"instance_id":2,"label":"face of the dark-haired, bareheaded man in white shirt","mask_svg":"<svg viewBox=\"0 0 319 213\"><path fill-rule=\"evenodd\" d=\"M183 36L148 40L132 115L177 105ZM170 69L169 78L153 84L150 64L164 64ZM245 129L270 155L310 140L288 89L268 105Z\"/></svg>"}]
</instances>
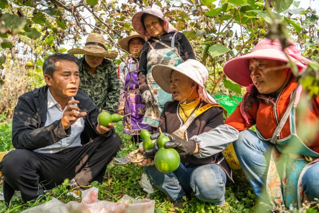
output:
<instances>
[{"instance_id":1,"label":"face of the dark-haired, bareheaded man in white shirt","mask_svg":"<svg viewBox=\"0 0 319 213\"><path fill-rule=\"evenodd\" d=\"M75 96L80 83L78 66L73 61L57 61L56 66L52 76L44 75L51 94L62 98Z\"/></svg>"}]
</instances>

